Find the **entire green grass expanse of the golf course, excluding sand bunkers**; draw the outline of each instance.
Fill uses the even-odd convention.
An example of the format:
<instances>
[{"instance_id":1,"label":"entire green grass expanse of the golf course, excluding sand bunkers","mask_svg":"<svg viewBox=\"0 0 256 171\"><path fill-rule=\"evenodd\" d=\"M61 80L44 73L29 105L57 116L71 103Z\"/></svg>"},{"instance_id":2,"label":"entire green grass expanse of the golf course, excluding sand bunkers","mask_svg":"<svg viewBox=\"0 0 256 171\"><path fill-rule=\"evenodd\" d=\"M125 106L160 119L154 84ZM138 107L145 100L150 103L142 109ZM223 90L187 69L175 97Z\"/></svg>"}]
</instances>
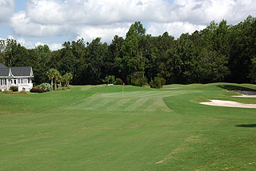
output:
<instances>
[{"instance_id":1,"label":"entire green grass expanse of the golf course, excluding sand bunkers","mask_svg":"<svg viewBox=\"0 0 256 171\"><path fill-rule=\"evenodd\" d=\"M0 170L254 170L256 103L214 83L0 93ZM159 164L155 164L159 162Z\"/></svg>"}]
</instances>

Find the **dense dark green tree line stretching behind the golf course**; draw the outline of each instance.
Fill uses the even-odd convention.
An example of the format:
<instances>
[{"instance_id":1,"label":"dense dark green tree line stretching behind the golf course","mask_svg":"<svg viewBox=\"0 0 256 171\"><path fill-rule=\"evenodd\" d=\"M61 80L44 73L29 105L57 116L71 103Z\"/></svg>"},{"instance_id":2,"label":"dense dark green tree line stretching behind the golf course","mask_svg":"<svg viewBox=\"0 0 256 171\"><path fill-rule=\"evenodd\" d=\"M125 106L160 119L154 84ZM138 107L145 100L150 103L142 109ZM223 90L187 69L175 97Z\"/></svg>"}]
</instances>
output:
<instances>
[{"instance_id":1,"label":"dense dark green tree line stretching behind the golf course","mask_svg":"<svg viewBox=\"0 0 256 171\"><path fill-rule=\"evenodd\" d=\"M95 38L64 42L61 50L48 46L27 50L12 39L0 41L0 62L6 66L32 66L34 82L49 82L46 71L73 73L74 85L99 84L114 75L127 84L143 74L150 82L166 84L208 82L256 82L256 18L238 25L210 22L204 30L174 39L167 32L146 34L141 22L130 26L126 38L114 36L110 45Z\"/></svg>"}]
</instances>

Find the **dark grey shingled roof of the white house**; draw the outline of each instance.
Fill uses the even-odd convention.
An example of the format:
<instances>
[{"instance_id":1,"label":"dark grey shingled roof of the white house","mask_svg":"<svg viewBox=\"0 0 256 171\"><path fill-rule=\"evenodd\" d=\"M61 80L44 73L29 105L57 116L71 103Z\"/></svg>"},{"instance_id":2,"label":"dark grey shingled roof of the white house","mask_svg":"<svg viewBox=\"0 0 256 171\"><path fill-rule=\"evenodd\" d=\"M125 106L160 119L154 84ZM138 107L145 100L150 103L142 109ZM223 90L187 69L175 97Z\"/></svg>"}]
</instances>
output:
<instances>
[{"instance_id":1,"label":"dark grey shingled roof of the white house","mask_svg":"<svg viewBox=\"0 0 256 171\"><path fill-rule=\"evenodd\" d=\"M33 76L33 71L31 66L20 66L20 67L6 67L0 63L0 76L8 77L12 74L14 77L30 77Z\"/></svg>"}]
</instances>

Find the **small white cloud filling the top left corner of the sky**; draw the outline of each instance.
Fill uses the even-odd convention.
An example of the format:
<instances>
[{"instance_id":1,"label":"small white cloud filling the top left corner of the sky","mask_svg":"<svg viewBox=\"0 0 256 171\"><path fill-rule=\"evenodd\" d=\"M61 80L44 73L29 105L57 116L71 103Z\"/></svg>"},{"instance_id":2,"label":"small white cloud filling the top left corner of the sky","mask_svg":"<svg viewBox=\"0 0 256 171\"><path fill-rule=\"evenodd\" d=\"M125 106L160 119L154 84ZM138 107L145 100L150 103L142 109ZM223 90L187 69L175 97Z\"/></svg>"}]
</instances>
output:
<instances>
[{"instance_id":1,"label":"small white cloud filling the top left corner of the sky","mask_svg":"<svg viewBox=\"0 0 256 171\"><path fill-rule=\"evenodd\" d=\"M14 0L0 0L0 23L9 22L14 13Z\"/></svg>"}]
</instances>

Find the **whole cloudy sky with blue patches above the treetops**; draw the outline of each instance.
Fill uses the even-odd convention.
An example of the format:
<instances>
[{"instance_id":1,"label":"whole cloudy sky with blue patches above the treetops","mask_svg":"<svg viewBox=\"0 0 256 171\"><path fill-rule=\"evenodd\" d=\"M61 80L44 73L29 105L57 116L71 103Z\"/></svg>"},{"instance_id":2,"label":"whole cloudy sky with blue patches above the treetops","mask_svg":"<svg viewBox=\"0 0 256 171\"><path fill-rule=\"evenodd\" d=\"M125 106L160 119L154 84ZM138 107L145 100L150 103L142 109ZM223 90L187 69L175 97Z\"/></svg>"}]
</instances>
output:
<instances>
[{"instance_id":1,"label":"whole cloudy sky with blue patches above the treetops","mask_svg":"<svg viewBox=\"0 0 256 171\"><path fill-rule=\"evenodd\" d=\"M102 38L126 37L131 24L142 22L146 34L202 30L211 21L235 25L252 15L256 0L0 0L0 39L14 38L26 48Z\"/></svg>"}]
</instances>

